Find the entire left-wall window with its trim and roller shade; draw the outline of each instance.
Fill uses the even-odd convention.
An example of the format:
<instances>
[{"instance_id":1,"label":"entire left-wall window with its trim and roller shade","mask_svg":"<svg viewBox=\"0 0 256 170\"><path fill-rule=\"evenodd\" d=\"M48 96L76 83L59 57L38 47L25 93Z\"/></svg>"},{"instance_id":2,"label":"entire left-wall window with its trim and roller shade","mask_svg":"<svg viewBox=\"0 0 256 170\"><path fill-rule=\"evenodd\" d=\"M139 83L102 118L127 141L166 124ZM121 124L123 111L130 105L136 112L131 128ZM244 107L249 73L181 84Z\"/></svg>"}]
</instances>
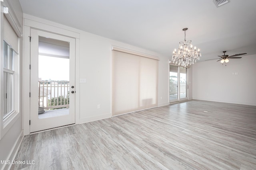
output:
<instances>
[{"instance_id":1,"label":"entire left-wall window with its trim and roller shade","mask_svg":"<svg viewBox=\"0 0 256 170\"><path fill-rule=\"evenodd\" d=\"M6 4L5 4L6 2ZM22 27L8 1L1 2L1 9L7 5L7 12L0 13L0 139L12 128L20 115L20 59L22 59Z\"/></svg>"}]
</instances>

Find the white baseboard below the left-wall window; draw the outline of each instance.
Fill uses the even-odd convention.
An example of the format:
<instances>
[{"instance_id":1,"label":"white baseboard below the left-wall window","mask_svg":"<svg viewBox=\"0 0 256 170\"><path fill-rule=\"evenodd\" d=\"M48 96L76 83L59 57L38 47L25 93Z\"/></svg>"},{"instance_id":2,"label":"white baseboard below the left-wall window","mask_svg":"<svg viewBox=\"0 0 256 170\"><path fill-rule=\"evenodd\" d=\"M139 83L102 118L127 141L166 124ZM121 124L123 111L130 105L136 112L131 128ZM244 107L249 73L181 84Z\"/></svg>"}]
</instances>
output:
<instances>
[{"instance_id":1,"label":"white baseboard below the left-wall window","mask_svg":"<svg viewBox=\"0 0 256 170\"><path fill-rule=\"evenodd\" d=\"M20 145L22 143L22 140L23 140L23 130L20 132L20 135L19 137L17 138L14 146L12 147L12 150L10 151L10 154L8 155L8 158L7 160L14 160L17 153L18 153L18 150L20 149ZM10 170L10 168L12 167L12 164L5 164L2 168L2 170Z\"/></svg>"}]
</instances>

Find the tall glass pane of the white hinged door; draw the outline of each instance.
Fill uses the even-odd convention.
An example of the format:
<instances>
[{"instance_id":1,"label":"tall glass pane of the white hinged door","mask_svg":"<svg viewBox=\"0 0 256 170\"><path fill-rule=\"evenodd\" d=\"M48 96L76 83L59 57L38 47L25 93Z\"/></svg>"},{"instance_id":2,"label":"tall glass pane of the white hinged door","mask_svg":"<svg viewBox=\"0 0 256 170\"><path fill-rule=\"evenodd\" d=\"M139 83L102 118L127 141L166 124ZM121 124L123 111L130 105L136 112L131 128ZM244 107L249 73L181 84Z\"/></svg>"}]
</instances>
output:
<instances>
[{"instance_id":1,"label":"tall glass pane of the white hinged door","mask_svg":"<svg viewBox=\"0 0 256 170\"><path fill-rule=\"evenodd\" d=\"M68 115L69 43L39 36L38 53L38 118Z\"/></svg>"}]
</instances>

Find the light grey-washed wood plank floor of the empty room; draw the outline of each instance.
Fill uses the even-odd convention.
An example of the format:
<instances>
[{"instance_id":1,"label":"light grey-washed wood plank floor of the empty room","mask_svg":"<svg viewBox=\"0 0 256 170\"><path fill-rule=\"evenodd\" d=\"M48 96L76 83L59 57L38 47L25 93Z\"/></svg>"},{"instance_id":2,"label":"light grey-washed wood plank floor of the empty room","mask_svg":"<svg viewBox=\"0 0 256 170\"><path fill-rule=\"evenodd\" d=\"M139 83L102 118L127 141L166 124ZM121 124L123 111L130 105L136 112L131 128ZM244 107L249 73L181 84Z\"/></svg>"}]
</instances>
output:
<instances>
[{"instance_id":1,"label":"light grey-washed wood plank floor of the empty room","mask_svg":"<svg viewBox=\"0 0 256 170\"><path fill-rule=\"evenodd\" d=\"M256 106L192 100L36 133L16 160L35 164L12 170L255 170Z\"/></svg>"}]
</instances>

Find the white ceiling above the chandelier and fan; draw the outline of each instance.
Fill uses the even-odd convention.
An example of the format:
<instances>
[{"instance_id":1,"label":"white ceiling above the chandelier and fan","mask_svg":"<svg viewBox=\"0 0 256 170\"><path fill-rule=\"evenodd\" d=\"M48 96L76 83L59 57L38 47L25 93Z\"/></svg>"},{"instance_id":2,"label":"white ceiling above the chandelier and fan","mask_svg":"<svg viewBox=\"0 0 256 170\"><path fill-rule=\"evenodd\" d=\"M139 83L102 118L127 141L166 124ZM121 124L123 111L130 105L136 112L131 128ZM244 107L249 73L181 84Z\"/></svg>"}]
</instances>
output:
<instances>
[{"instance_id":1,"label":"white ceiling above the chandelier and fan","mask_svg":"<svg viewBox=\"0 0 256 170\"><path fill-rule=\"evenodd\" d=\"M256 54L256 0L20 0L39 18L170 56L186 40L200 61L236 53ZM243 57L243 56L241 56ZM246 57L244 55L244 57Z\"/></svg>"}]
</instances>

